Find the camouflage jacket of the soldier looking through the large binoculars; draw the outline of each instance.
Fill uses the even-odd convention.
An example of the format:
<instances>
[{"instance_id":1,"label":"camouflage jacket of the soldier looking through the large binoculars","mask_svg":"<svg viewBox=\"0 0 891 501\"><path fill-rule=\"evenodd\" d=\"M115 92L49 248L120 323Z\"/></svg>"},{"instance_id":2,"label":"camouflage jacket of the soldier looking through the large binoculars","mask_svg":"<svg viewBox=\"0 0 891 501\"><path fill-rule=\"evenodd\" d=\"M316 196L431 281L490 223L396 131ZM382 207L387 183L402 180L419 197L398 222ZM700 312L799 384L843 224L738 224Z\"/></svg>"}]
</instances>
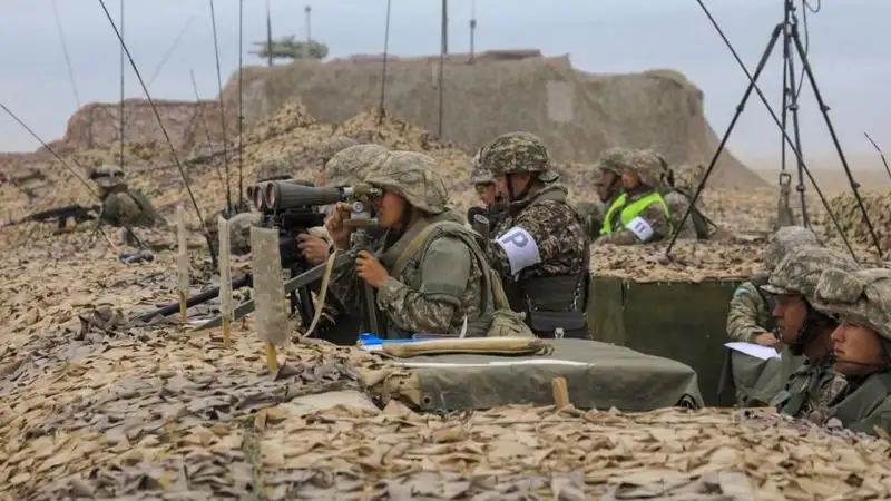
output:
<instances>
[{"instance_id":1,"label":"camouflage jacket of the soldier looking through the large binoculars","mask_svg":"<svg viewBox=\"0 0 891 501\"><path fill-rule=\"evenodd\" d=\"M444 219L449 218L444 216ZM381 264L388 272L394 272L400 255L431 222L420 219L379 252ZM461 230L473 235L469 229ZM483 259L482 255L474 256L460 237L433 230L408 259L402 272L389 277L376 291L376 305L383 314L379 335L388 338L407 338L415 333L456 335L466 321L468 326L479 324L482 310L489 308L482 305ZM449 273L443 273L444 269ZM331 289L347 310L361 311L358 293L362 285L354 265L350 265L336 274Z\"/></svg>"}]
</instances>

